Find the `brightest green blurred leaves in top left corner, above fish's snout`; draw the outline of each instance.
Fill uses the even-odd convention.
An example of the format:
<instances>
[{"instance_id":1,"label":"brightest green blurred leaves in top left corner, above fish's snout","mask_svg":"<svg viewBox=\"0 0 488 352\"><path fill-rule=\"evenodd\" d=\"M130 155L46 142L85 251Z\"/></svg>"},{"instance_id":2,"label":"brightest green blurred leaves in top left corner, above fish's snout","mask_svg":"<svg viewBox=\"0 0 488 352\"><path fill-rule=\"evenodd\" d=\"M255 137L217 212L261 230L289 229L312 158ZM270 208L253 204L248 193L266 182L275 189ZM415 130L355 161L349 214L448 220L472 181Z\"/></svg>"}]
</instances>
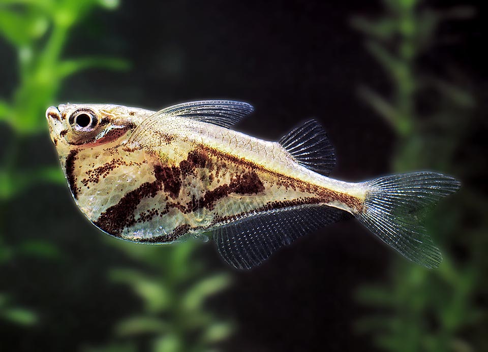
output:
<instances>
[{"instance_id":1,"label":"brightest green blurred leaves in top left corner, above fish's snout","mask_svg":"<svg viewBox=\"0 0 488 352\"><path fill-rule=\"evenodd\" d=\"M95 7L113 9L110 0L2 0L0 30L17 49L19 84L10 102L0 101L0 119L19 134L45 130L39 116L68 76L93 67L123 69L117 58L62 58L70 30Z\"/></svg>"}]
</instances>

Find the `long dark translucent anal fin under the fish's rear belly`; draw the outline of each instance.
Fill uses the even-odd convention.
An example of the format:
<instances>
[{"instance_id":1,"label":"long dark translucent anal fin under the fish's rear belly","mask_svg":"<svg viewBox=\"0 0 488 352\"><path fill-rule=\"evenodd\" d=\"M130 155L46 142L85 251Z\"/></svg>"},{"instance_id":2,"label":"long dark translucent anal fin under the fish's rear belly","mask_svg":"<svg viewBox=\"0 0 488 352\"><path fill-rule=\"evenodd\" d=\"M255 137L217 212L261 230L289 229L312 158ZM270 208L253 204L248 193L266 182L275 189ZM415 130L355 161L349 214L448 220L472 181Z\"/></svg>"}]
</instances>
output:
<instances>
[{"instance_id":1,"label":"long dark translucent anal fin under the fish's rear belly","mask_svg":"<svg viewBox=\"0 0 488 352\"><path fill-rule=\"evenodd\" d=\"M214 240L228 264L251 269L298 237L349 216L345 211L325 205L270 210L218 228Z\"/></svg>"}]
</instances>

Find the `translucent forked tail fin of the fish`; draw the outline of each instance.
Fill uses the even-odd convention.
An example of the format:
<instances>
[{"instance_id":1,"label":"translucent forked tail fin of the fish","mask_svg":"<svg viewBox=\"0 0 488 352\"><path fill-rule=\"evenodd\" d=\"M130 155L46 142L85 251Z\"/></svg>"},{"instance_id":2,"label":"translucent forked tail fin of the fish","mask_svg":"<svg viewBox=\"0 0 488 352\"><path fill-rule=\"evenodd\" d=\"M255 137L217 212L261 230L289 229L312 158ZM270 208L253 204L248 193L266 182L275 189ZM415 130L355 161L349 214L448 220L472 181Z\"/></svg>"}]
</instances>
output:
<instances>
[{"instance_id":1,"label":"translucent forked tail fin of the fish","mask_svg":"<svg viewBox=\"0 0 488 352\"><path fill-rule=\"evenodd\" d=\"M369 190L356 218L412 262L437 268L442 261L441 252L419 217L425 208L459 189L460 182L424 171L380 177L363 185Z\"/></svg>"}]
</instances>

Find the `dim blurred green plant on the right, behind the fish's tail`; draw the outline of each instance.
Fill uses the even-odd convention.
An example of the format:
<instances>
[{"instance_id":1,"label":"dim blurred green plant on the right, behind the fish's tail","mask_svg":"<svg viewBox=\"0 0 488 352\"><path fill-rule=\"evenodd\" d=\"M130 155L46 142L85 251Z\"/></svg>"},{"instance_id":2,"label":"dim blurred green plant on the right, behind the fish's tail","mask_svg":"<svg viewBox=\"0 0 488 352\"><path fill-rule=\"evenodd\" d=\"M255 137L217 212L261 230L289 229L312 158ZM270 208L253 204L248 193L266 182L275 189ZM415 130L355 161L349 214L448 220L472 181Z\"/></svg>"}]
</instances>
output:
<instances>
[{"instance_id":1,"label":"dim blurred green plant on the right, behind the fish's tail","mask_svg":"<svg viewBox=\"0 0 488 352\"><path fill-rule=\"evenodd\" d=\"M456 10L429 9L420 0L383 2L386 13L382 18L373 21L359 18L353 20L352 25L368 36L368 50L392 83L391 95L380 97L369 88L362 88L361 98L369 102L399 135L392 160L394 172L425 167L435 169L436 163L444 165L439 167L440 170L448 170L458 149L456 143L464 141L464 137L459 136L464 132L466 112L469 113L476 102L469 91L443 81L424 78L422 62L418 59L436 44L441 21L456 18ZM460 11L459 18L471 15L470 11ZM386 30L383 31L380 24ZM393 37L389 37L391 33L394 33ZM421 96L420 93L430 93L432 87L440 95L427 97L426 101L438 97L441 100L436 112L424 112L421 104L418 104L423 103L423 99L417 98ZM421 116L420 113L429 115ZM437 116L439 118L436 120ZM432 144L438 149L432 151ZM485 209L484 205L479 208ZM459 232L463 229L462 237L470 236L465 228L459 226L462 220L452 219L452 216L445 214L444 217L447 220L444 221L443 231L439 232L449 232L449 229ZM449 239L444 241L444 247L449 248ZM468 256L466 262L469 261L471 258ZM441 266L433 271L397 262L389 288L372 286L358 291L356 296L359 302L384 315L361 319L357 328L361 332L371 332L376 344L385 350L463 349L463 344L454 347L453 341L457 339L457 334L470 329L469 324L476 317L474 313L481 310L473 304L473 294L479 290L480 282L479 277L472 275L476 271L470 264L459 266L452 262L448 254L444 255Z\"/></svg>"}]
</instances>

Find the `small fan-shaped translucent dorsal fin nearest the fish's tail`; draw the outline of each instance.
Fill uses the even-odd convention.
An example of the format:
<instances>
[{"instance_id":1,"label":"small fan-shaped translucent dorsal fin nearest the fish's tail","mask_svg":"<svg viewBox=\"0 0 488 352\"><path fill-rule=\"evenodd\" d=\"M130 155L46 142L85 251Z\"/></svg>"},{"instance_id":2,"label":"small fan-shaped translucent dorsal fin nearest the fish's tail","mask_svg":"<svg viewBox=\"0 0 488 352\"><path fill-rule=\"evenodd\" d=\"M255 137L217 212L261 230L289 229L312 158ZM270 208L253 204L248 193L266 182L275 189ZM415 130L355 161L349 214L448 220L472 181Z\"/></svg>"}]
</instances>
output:
<instances>
[{"instance_id":1,"label":"small fan-shaped translucent dorsal fin nearest the fish's tail","mask_svg":"<svg viewBox=\"0 0 488 352\"><path fill-rule=\"evenodd\" d=\"M322 126L309 120L280 139L298 164L328 176L335 166L334 147Z\"/></svg>"}]
</instances>

